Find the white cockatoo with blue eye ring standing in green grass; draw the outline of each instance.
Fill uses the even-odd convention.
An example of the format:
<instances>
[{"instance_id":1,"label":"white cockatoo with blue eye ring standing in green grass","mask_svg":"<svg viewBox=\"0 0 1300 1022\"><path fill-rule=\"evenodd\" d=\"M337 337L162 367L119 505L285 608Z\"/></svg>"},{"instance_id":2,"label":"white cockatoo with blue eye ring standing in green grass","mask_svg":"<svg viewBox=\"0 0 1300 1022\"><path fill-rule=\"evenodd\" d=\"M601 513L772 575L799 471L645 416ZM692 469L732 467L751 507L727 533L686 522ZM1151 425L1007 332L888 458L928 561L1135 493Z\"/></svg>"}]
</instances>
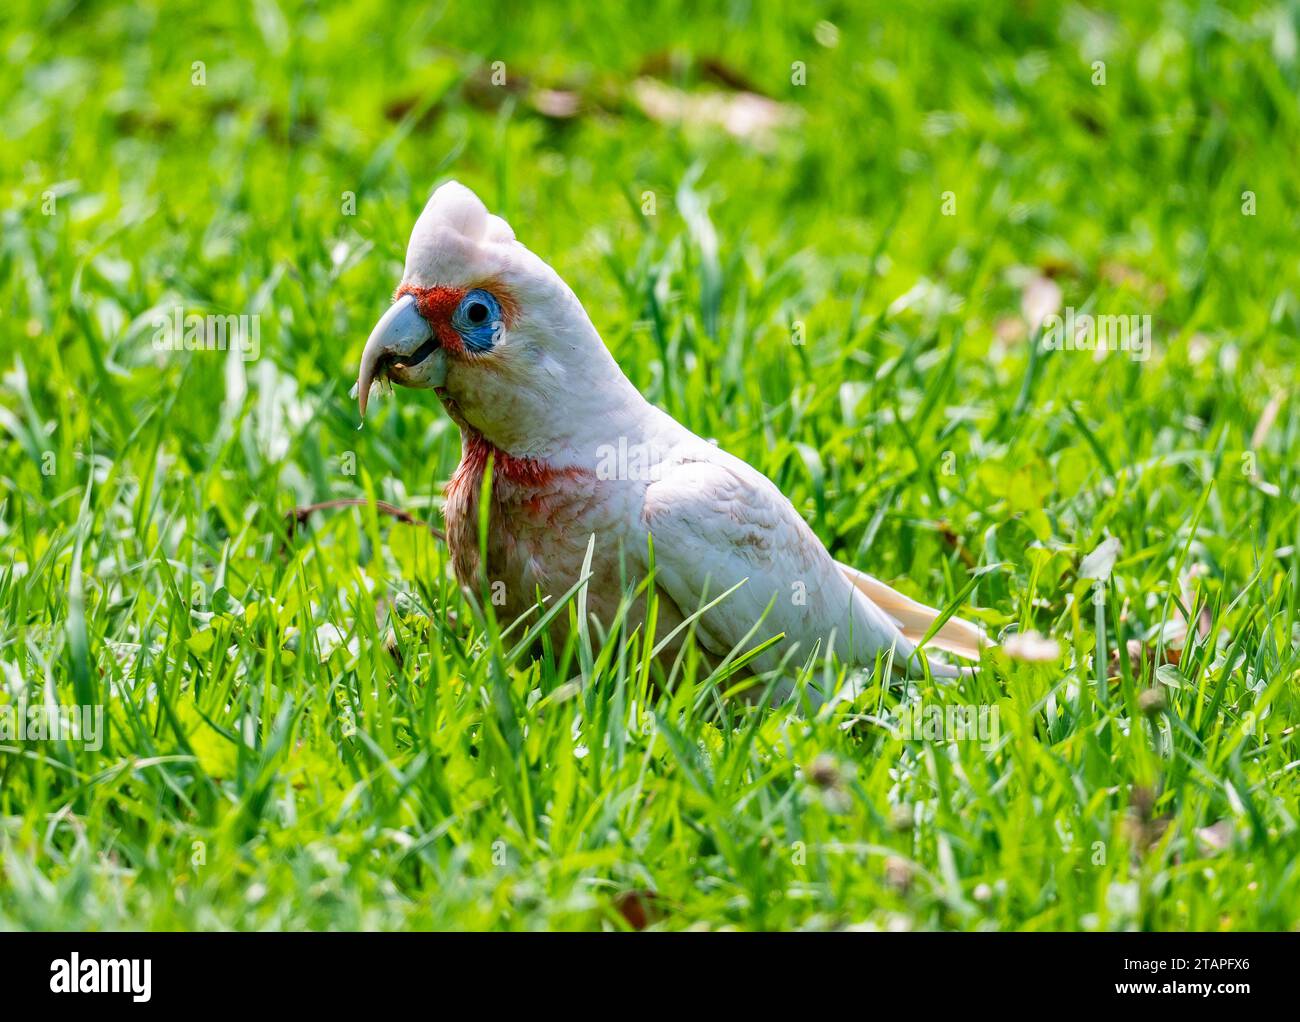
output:
<instances>
[{"instance_id":1,"label":"white cockatoo with blue eye ring standing in green grass","mask_svg":"<svg viewBox=\"0 0 1300 1022\"><path fill-rule=\"evenodd\" d=\"M937 611L837 563L767 477L642 398L568 285L456 182L416 221L396 299L365 343L363 416L385 377L432 387L460 426L447 542L463 585L486 579L504 597L500 620L567 593L594 534L586 607L610 623L628 580L649 577L653 536L656 636L736 586L693 622L715 662L781 635L751 670L828 649L849 666L892 651L896 670L920 668L916 644ZM637 605L632 624L644 612ZM566 629L567 614L555 622ZM983 641L950 618L928 645L978 659ZM959 674L927 662L935 676Z\"/></svg>"}]
</instances>

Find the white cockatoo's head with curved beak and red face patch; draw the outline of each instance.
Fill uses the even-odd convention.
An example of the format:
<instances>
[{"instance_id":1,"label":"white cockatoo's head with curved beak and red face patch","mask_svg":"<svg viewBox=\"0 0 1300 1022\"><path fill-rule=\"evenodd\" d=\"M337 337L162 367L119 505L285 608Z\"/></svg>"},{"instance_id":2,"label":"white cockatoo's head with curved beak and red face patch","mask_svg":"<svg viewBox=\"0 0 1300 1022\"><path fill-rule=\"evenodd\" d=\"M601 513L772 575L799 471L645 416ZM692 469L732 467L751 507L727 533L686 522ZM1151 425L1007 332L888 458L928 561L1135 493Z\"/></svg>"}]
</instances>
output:
<instances>
[{"instance_id":1,"label":"white cockatoo's head with curved beak and red face patch","mask_svg":"<svg viewBox=\"0 0 1300 1022\"><path fill-rule=\"evenodd\" d=\"M517 455L569 446L630 387L559 274L455 181L416 221L395 302L365 342L361 415L385 377L434 389L462 428Z\"/></svg>"}]
</instances>

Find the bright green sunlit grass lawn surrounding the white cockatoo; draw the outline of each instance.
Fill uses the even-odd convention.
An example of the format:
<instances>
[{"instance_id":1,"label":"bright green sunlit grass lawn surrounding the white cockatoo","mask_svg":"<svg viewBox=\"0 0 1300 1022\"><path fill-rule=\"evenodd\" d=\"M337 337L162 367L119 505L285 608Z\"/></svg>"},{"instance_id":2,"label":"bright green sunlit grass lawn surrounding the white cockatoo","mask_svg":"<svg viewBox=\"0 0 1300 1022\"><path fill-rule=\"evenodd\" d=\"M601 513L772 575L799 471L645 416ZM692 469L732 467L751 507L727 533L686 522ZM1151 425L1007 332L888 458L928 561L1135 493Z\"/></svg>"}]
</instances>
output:
<instances>
[{"instance_id":1,"label":"bright green sunlit grass lawn surrounding the white cockatoo","mask_svg":"<svg viewBox=\"0 0 1300 1022\"><path fill-rule=\"evenodd\" d=\"M0 701L108 736L0 740L0 927L1295 927L1295 8L489 7L6 10ZM637 101L727 72L770 137ZM347 391L451 176L838 558L1061 655L719 709L644 635L519 651L422 528L286 538L438 521L437 402ZM1044 274L1150 358L1035 345ZM177 304L260 358L156 352Z\"/></svg>"}]
</instances>

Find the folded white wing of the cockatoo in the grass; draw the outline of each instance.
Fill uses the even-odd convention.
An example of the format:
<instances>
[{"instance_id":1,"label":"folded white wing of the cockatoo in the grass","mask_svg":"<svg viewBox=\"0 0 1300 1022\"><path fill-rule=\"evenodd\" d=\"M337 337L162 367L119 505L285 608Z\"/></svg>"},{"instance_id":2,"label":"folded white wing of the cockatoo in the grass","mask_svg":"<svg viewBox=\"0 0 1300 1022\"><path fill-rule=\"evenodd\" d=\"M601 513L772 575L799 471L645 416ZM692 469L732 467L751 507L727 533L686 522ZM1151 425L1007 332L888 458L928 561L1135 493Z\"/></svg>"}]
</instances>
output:
<instances>
[{"instance_id":1,"label":"folded white wing of the cockatoo in the grass","mask_svg":"<svg viewBox=\"0 0 1300 1022\"><path fill-rule=\"evenodd\" d=\"M708 651L729 653L760 619L751 645L785 635L784 648L757 662L762 670L777 666L790 644L798 644L801 657L831 644L841 661L861 666L890 648L900 663L915 651L785 495L744 462L710 449L698 460L671 464L646 489L642 514L654 536L659 585L684 615L744 581L701 616L698 635ZM936 675L957 674L946 664L931 667Z\"/></svg>"}]
</instances>

